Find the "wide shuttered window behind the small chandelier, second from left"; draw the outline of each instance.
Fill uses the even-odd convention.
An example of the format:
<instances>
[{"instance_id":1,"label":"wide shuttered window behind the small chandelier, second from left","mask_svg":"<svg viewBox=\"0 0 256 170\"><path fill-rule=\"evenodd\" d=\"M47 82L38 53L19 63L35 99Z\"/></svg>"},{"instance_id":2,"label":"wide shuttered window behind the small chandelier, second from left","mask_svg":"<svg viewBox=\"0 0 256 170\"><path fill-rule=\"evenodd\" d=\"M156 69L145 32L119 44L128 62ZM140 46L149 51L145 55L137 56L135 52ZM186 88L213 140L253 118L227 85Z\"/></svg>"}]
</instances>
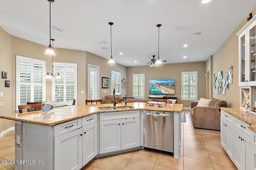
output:
<instances>
[{"instance_id":1,"label":"wide shuttered window behind the small chandelier, second from left","mask_svg":"<svg viewBox=\"0 0 256 170\"><path fill-rule=\"evenodd\" d=\"M59 73L61 79L53 79L52 98L55 102L72 105L77 95L77 64L54 63L54 74Z\"/></svg>"}]
</instances>

